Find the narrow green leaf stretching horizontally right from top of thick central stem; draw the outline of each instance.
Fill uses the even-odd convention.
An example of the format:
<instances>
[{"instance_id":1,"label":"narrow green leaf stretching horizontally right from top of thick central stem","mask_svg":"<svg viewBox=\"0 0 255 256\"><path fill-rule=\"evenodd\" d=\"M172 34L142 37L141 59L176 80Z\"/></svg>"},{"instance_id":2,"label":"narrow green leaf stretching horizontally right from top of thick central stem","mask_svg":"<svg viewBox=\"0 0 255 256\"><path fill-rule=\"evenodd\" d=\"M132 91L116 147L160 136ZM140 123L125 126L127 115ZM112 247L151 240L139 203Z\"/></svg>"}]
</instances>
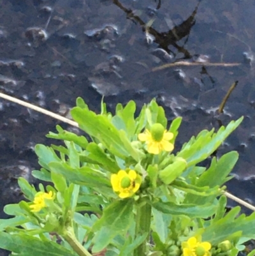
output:
<instances>
[{"instance_id":1,"label":"narrow green leaf stretching horizontally right from top of thick central stem","mask_svg":"<svg viewBox=\"0 0 255 256\"><path fill-rule=\"evenodd\" d=\"M152 207L168 215L186 215L189 218L208 218L214 215L217 204L205 204L197 206L196 204L174 204L173 202L152 202Z\"/></svg>"}]
</instances>

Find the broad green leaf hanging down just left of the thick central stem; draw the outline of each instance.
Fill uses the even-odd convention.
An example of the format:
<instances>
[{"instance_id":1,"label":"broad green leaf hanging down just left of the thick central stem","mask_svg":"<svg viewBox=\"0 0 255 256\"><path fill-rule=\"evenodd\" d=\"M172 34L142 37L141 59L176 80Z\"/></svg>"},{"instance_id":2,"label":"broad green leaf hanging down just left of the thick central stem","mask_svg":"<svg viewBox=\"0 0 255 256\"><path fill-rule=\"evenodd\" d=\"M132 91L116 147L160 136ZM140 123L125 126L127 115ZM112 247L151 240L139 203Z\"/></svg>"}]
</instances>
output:
<instances>
[{"instance_id":1,"label":"broad green leaf hanging down just left of the thick central stem","mask_svg":"<svg viewBox=\"0 0 255 256\"><path fill-rule=\"evenodd\" d=\"M93 238L93 252L100 252L117 234L125 232L133 220L133 199L115 201L103 211L103 216L94 224L97 231Z\"/></svg>"}]
</instances>

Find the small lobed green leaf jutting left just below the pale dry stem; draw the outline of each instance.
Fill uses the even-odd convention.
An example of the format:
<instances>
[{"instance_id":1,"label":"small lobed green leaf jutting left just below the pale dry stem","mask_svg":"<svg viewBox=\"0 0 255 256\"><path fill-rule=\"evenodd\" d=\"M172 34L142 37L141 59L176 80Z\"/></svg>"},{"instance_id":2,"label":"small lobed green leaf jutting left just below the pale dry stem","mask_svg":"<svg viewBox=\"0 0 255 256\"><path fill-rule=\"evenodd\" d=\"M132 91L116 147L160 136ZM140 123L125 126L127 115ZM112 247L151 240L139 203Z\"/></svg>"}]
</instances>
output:
<instances>
[{"instance_id":1,"label":"small lobed green leaf jutting left just below the pale dry stem","mask_svg":"<svg viewBox=\"0 0 255 256\"><path fill-rule=\"evenodd\" d=\"M75 133L63 130L59 125L56 126L56 129L59 133L49 132L46 137L57 140L73 141L75 144L84 149L87 147L88 141L84 136L78 136Z\"/></svg>"}]
</instances>

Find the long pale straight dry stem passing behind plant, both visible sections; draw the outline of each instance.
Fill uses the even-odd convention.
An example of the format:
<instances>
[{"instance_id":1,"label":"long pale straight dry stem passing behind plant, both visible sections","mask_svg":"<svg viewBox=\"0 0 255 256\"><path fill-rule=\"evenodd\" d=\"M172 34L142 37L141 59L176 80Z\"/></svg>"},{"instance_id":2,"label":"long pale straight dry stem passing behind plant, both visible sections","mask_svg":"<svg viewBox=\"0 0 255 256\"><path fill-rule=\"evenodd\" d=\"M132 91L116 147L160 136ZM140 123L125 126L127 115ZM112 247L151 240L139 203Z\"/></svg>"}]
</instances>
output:
<instances>
[{"instance_id":1,"label":"long pale straight dry stem passing behind plant, both visible sections","mask_svg":"<svg viewBox=\"0 0 255 256\"><path fill-rule=\"evenodd\" d=\"M31 104L31 103L24 102L23 100L18 100L17 98L14 98L12 96L8 96L8 95L6 95L4 93L0 93L0 98L4 98L5 100L10 100L10 102L15 102L18 105L22 105L22 106L27 107L29 109L33 109L33 110L38 111L38 112L40 112L42 114L45 114L45 115L50 116L52 118L55 118L55 119L57 119L59 121L62 121L64 123L68 123L68 124L70 124L72 126L75 126L75 127L78 127L78 123L76 123L75 121L71 121L70 119L68 119L66 117L59 116L58 114L55 114L55 113L50 112L48 110L42 109L41 107L37 107L37 106L35 106L35 105ZM242 199L239 199L238 197L235 197L235 195L232 195L229 192L224 192L224 195L226 195L226 197L228 197L229 199L232 199L235 202L238 202L238 204L241 204L242 206L245 206L248 209L251 209L252 211L255 211L255 207L254 206L252 206L251 204L245 202Z\"/></svg>"}]
</instances>

